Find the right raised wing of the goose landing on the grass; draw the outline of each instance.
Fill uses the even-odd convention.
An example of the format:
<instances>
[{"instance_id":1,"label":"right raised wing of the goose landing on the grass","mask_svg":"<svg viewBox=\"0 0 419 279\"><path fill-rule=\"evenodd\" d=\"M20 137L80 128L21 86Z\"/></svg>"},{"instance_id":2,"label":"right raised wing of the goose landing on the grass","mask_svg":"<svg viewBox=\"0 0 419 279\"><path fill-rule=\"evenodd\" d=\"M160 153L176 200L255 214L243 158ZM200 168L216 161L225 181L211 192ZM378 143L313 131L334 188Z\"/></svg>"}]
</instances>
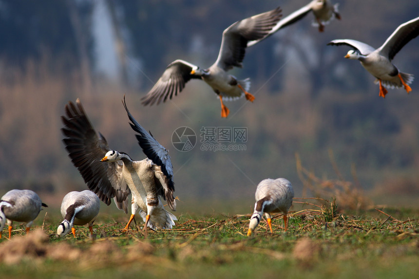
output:
<instances>
[{"instance_id":1,"label":"right raised wing of the goose landing on the grass","mask_svg":"<svg viewBox=\"0 0 419 279\"><path fill-rule=\"evenodd\" d=\"M135 135L137 138L138 144L143 149L144 154L152 160L154 164L161 167L164 175L168 178L168 187L174 191L174 182L173 182L173 166L171 165L170 156L167 151L161 144L156 141L153 136L147 132L141 125L135 120L131 112L127 108L125 103L124 95L124 108L128 113L128 118L131 123L130 126L138 134Z\"/></svg>"}]
</instances>

